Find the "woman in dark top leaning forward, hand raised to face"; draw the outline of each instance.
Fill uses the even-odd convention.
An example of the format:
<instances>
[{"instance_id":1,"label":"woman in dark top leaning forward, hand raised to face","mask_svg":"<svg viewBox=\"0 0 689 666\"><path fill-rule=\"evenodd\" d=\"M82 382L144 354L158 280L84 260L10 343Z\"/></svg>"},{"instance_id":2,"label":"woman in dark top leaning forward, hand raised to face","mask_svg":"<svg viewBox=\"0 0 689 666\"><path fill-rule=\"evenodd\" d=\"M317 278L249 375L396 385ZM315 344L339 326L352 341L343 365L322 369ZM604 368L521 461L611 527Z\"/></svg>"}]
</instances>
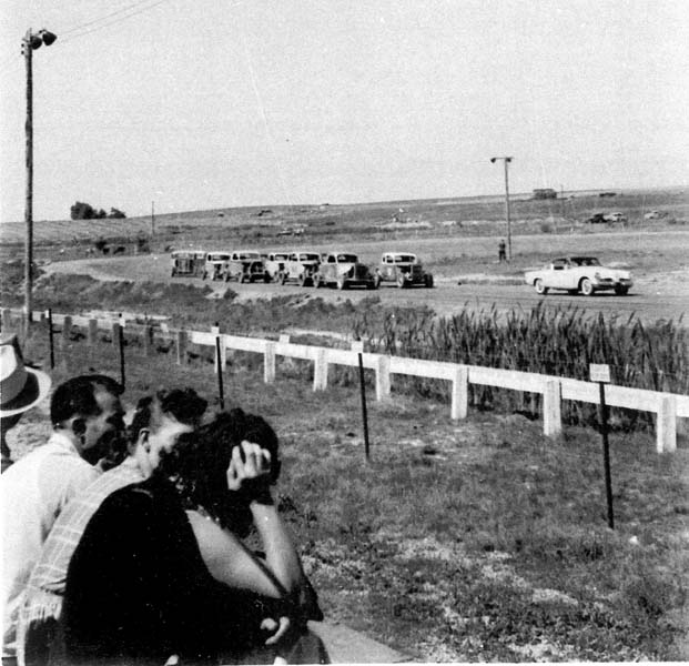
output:
<instances>
[{"instance_id":1,"label":"woman in dark top leaning forward, hand raised to face","mask_svg":"<svg viewBox=\"0 0 689 666\"><path fill-rule=\"evenodd\" d=\"M220 414L153 466L103 502L70 562L69 659L272 663L290 652L294 660L297 646L324 663L315 637L303 638L305 620L322 614L273 502L270 425L241 410ZM252 524L265 559L240 538Z\"/></svg>"}]
</instances>

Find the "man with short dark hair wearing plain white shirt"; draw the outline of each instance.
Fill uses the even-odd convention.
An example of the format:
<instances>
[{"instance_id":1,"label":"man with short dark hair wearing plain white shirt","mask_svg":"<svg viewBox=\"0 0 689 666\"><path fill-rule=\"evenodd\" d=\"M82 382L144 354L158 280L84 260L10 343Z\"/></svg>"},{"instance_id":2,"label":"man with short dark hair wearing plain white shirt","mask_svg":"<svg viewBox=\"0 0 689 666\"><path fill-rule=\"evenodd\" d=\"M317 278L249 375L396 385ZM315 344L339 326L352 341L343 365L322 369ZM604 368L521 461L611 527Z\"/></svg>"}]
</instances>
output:
<instances>
[{"instance_id":1,"label":"man with short dark hair wearing plain white shirt","mask_svg":"<svg viewBox=\"0 0 689 666\"><path fill-rule=\"evenodd\" d=\"M31 569L67 503L100 474L97 463L124 436L122 387L105 375L59 385L51 400L53 434L0 476L2 512L2 657L16 656L16 629Z\"/></svg>"}]
</instances>

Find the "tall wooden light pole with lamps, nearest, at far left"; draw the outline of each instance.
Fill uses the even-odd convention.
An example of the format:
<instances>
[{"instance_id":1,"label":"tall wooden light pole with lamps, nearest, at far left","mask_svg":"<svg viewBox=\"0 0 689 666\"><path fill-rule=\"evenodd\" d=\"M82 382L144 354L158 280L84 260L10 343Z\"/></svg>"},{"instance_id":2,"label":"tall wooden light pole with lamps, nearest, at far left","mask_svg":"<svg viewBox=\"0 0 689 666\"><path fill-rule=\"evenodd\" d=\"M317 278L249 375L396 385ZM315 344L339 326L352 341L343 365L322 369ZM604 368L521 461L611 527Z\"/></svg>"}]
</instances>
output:
<instances>
[{"instance_id":1,"label":"tall wooden light pole with lamps, nearest, at far left","mask_svg":"<svg viewBox=\"0 0 689 666\"><path fill-rule=\"evenodd\" d=\"M21 52L27 63L27 201L24 220L27 222L27 243L24 254L24 316L27 326L32 319L32 293L33 293L33 71L31 57L33 51L41 44L50 47L55 39L52 32L39 30L27 34L21 40Z\"/></svg>"}]
</instances>

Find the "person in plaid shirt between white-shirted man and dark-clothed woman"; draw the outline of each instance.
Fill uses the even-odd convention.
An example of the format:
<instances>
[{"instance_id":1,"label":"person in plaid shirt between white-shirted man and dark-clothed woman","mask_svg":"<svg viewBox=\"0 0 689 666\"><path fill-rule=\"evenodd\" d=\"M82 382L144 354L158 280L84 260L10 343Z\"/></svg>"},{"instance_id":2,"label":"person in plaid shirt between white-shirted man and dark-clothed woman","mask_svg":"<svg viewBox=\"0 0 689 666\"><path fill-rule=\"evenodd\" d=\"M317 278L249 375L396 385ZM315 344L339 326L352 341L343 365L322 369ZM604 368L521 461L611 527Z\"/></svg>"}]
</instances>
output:
<instances>
[{"instance_id":1,"label":"person in plaid shirt between white-shirted man and dark-clothed woman","mask_svg":"<svg viewBox=\"0 0 689 666\"><path fill-rule=\"evenodd\" d=\"M128 428L129 455L67 505L31 573L19 617L20 664L38 666L62 658L58 620L67 568L89 519L108 495L150 476L151 455L170 450L180 434L196 427L206 405L192 389L159 391L139 401Z\"/></svg>"}]
</instances>

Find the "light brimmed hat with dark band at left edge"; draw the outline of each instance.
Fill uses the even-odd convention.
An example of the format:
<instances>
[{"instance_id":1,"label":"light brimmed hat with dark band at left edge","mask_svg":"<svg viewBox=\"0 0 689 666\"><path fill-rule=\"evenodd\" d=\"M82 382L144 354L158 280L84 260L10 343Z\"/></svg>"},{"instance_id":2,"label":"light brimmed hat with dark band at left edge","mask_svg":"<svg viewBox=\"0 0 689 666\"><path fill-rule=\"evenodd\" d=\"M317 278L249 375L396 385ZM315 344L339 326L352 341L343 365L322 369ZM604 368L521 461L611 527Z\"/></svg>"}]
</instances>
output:
<instances>
[{"instance_id":1,"label":"light brimmed hat with dark band at left edge","mask_svg":"<svg viewBox=\"0 0 689 666\"><path fill-rule=\"evenodd\" d=\"M24 365L17 335L0 336L0 417L30 410L48 395L50 384L44 372Z\"/></svg>"}]
</instances>

